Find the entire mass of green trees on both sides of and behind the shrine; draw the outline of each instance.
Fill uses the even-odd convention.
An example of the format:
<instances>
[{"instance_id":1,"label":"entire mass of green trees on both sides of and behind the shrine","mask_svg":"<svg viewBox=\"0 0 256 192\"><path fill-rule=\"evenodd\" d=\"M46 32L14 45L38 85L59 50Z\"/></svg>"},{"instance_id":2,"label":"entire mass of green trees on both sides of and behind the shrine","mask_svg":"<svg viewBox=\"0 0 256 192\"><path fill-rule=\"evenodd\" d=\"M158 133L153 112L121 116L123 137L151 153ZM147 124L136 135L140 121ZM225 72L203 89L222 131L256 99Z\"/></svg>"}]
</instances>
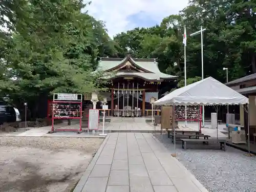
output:
<instances>
[{"instance_id":1,"label":"entire mass of green trees on both sides of and behind the shrine","mask_svg":"<svg viewBox=\"0 0 256 192\"><path fill-rule=\"evenodd\" d=\"M184 26L187 32L187 84L204 77L222 82L256 72L256 2L189 1L159 25L121 32L111 39L104 21L81 9L82 0L2 0L0 4L0 96L19 110L29 102L35 117L41 99L52 92L102 90L98 57L157 58L159 69L178 75L184 86Z\"/></svg>"}]
</instances>

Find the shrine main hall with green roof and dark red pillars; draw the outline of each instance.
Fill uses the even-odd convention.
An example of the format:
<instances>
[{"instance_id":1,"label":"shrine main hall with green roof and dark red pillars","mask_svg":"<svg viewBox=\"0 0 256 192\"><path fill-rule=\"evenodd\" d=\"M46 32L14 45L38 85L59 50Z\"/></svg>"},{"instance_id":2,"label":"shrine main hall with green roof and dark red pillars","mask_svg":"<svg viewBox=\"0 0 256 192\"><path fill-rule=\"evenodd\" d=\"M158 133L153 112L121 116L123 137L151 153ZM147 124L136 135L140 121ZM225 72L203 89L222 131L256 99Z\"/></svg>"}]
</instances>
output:
<instances>
[{"instance_id":1,"label":"shrine main hall with green roof and dark red pillars","mask_svg":"<svg viewBox=\"0 0 256 192\"><path fill-rule=\"evenodd\" d=\"M175 88L178 76L160 72L156 59L100 58L98 69L103 71L102 79L108 83L108 92L96 93L91 101L94 109L105 109L108 116L146 116L152 110L152 102ZM110 75L111 74L111 75Z\"/></svg>"}]
</instances>

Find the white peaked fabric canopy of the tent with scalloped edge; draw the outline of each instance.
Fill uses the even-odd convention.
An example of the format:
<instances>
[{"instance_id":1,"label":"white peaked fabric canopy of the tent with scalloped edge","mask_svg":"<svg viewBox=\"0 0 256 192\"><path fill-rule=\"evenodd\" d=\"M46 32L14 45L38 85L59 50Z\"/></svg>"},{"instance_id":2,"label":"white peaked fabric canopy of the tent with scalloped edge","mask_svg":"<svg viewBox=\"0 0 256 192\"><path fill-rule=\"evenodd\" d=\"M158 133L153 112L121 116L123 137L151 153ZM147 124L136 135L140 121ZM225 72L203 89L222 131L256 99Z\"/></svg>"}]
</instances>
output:
<instances>
[{"instance_id":1,"label":"white peaked fabric canopy of the tent with scalloped edge","mask_svg":"<svg viewBox=\"0 0 256 192\"><path fill-rule=\"evenodd\" d=\"M154 102L155 105L231 105L249 103L247 97L208 77L177 89Z\"/></svg>"}]
</instances>

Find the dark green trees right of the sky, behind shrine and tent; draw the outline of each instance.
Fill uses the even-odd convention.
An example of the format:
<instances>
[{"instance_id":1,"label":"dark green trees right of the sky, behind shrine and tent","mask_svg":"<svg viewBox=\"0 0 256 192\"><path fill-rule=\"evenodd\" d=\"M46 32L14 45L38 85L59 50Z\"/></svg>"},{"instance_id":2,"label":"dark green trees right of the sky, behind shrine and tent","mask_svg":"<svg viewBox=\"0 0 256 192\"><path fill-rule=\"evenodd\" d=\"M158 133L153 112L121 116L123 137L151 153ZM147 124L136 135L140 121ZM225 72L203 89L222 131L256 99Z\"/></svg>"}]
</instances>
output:
<instances>
[{"instance_id":1,"label":"dark green trees right of the sky, behind shrine and tent","mask_svg":"<svg viewBox=\"0 0 256 192\"><path fill-rule=\"evenodd\" d=\"M189 1L177 15L162 19L160 25L135 28L120 33L114 40L135 57L158 58L162 72L184 79L184 46L186 26L187 78L201 77L201 36L189 34L206 29L203 37L204 77L226 80L223 67L228 68L229 80L255 73L256 50L255 1Z\"/></svg>"}]
</instances>

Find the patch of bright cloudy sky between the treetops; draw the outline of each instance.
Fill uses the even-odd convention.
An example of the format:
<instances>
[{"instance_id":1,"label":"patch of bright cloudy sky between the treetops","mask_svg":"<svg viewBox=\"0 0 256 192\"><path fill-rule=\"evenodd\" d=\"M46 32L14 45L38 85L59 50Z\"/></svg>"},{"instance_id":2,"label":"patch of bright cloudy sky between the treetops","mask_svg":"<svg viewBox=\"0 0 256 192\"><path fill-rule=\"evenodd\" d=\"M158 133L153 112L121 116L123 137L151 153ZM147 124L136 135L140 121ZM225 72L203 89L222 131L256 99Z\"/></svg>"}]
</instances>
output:
<instances>
[{"instance_id":1,"label":"patch of bright cloudy sky between the treetops","mask_svg":"<svg viewBox=\"0 0 256 192\"><path fill-rule=\"evenodd\" d=\"M129 19L132 15L141 13L160 24L164 17L177 14L187 4L188 0L92 0L86 9L96 19L103 20L109 35L113 36L134 27L143 27Z\"/></svg>"}]
</instances>

